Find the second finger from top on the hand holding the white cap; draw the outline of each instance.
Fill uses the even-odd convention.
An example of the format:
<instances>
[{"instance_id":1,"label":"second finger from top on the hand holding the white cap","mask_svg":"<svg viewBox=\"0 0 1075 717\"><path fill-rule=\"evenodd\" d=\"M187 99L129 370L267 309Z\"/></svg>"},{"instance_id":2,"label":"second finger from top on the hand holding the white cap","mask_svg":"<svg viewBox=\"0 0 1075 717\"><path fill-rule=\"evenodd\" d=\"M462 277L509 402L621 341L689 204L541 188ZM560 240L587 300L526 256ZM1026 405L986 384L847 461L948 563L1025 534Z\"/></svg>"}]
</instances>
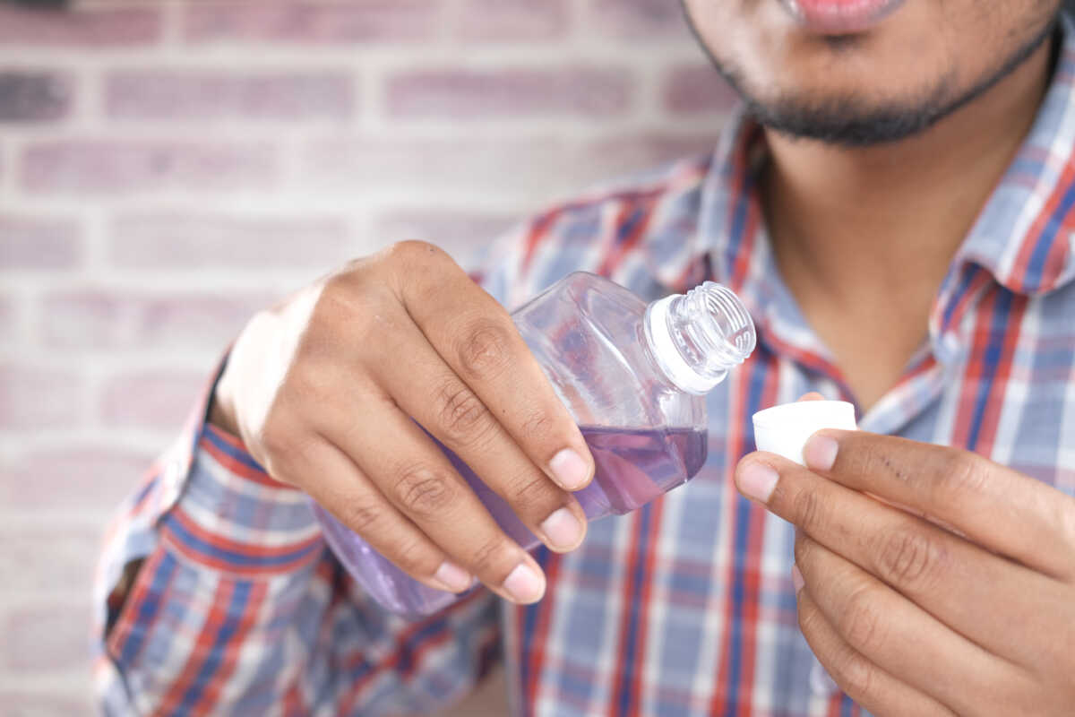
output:
<instances>
[{"instance_id":1,"label":"second finger from top on the hand holding the white cap","mask_svg":"<svg viewBox=\"0 0 1075 717\"><path fill-rule=\"evenodd\" d=\"M1049 626L1066 586L1032 568L775 454L743 458L735 484L994 655L1033 664L1041 648L1026 634L1056 630Z\"/></svg>"}]
</instances>

